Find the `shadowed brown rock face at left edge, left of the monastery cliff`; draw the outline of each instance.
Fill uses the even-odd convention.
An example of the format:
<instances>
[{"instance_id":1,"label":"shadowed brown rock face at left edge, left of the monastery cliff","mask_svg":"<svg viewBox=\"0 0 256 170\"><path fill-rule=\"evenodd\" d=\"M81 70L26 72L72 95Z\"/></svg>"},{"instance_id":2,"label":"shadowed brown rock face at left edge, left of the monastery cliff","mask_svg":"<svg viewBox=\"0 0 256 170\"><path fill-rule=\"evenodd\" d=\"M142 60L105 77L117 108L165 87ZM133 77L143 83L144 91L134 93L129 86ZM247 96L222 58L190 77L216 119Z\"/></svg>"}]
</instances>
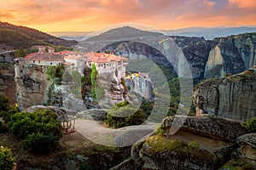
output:
<instances>
[{"instance_id":1,"label":"shadowed brown rock face at left edge, left of the monastery cliff","mask_svg":"<svg viewBox=\"0 0 256 170\"><path fill-rule=\"evenodd\" d=\"M15 70L13 67L0 67L0 94L9 98L10 105L15 105Z\"/></svg>"}]
</instances>

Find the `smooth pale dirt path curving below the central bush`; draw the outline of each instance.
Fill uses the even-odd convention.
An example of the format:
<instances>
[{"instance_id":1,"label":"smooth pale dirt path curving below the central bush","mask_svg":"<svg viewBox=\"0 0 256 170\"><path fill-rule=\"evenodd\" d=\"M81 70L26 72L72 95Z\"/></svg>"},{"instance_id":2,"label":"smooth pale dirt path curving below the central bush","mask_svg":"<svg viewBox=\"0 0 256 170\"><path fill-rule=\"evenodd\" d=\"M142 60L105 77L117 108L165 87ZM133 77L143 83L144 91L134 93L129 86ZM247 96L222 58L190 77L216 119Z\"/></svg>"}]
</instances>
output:
<instances>
[{"instance_id":1,"label":"smooth pale dirt path curving below the central bush","mask_svg":"<svg viewBox=\"0 0 256 170\"><path fill-rule=\"evenodd\" d=\"M155 123L145 125L122 127L111 129L102 127L101 124L95 121L77 119L75 130L84 138L90 139L92 142L113 147L129 146L143 138L148 133L152 133L155 129ZM74 135L73 138L76 138ZM77 140L81 140L81 136L77 136ZM75 143L75 142L74 142Z\"/></svg>"}]
</instances>

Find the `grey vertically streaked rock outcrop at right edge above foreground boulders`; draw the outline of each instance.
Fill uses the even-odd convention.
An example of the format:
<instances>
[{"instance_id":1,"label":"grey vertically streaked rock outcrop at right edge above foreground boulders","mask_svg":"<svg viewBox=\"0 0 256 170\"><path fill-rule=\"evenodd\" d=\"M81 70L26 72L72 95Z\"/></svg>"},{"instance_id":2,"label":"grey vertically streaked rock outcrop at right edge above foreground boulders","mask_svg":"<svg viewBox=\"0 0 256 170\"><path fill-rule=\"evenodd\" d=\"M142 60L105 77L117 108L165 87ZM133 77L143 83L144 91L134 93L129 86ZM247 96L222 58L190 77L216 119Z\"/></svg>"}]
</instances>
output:
<instances>
[{"instance_id":1,"label":"grey vertically streaked rock outcrop at right edge above foreground boulders","mask_svg":"<svg viewBox=\"0 0 256 170\"><path fill-rule=\"evenodd\" d=\"M208 113L245 122L256 116L255 99L256 67L201 82L194 89L197 115Z\"/></svg>"}]
</instances>

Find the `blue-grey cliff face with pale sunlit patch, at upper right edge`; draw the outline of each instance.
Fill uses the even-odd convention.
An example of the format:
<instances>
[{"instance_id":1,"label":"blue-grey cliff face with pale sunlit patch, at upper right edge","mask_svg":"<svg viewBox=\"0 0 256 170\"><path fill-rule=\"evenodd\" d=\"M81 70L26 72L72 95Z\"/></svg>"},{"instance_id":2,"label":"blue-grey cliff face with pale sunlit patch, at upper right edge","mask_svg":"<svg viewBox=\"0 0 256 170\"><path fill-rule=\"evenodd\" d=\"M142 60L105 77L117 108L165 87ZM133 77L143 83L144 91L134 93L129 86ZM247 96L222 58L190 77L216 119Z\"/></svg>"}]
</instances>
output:
<instances>
[{"instance_id":1,"label":"blue-grey cliff face with pale sunlit patch, at upper right edge","mask_svg":"<svg viewBox=\"0 0 256 170\"><path fill-rule=\"evenodd\" d=\"M209 54L205 77L223 77L237 74L256 64L256 34L215 38L218 46ZM218 49L219 48L219 49Z\"/></svg>"}]
</instances>

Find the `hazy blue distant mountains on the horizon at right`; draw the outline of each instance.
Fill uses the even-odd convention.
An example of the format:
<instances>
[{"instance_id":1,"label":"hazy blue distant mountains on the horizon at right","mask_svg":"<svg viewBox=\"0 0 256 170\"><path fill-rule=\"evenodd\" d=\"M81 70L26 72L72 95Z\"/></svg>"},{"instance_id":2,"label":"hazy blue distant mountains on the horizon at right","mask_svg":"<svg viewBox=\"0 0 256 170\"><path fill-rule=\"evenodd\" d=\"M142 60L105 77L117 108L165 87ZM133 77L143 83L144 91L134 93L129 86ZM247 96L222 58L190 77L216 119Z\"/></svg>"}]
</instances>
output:
<instances>
[{"instance_id":1,"label":"hazy blue distant mountains on the horizon at right","mask_svg":"<svg viewBox=\"0 0 256 170\"><path fill-rule=\"evenodd\" d=\"M215 37L227 37L236 34L256 32L256 26L241 26L241 27L189 27L178 30L163 31L169 36L184 36L184 37L205 37L213 39Z\"/></svg>"}]
</instances>

